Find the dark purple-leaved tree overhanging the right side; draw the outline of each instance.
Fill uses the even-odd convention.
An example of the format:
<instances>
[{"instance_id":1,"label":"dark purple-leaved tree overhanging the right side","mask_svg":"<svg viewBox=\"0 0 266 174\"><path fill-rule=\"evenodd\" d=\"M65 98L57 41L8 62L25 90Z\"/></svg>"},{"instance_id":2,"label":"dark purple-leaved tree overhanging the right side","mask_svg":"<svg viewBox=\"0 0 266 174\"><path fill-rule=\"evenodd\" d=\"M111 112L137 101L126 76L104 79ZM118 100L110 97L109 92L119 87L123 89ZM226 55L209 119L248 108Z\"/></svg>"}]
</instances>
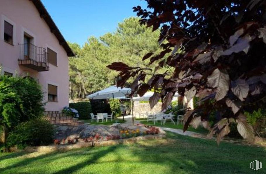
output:
<instances>
[{"instance_id":1,"label":"dark purple-leaved tree overhanging the right side","mask_svg":"<svg viewBox=\"0 0 266 174\"><path fill-rule=\"evenodd\" d=\"M107 66L120 72L117 85L135 78L132 94L142 96L154 89L150 105L162 99L162 110L176 92L188 101L196 96L199 106L186 111L184 131L189 125L208 128L209 115L215 112L220 120L209 128L210 137L216 134L219 143L234 122L242 137L252 141L253 128L243 111L258 109L266 101L266 1L146 1L147 9L133 10L141 24L160 30L163 51L143 57L157 65L152 70L122 62ZM162 67L169 70L157 73Z\"/></svg>"}]
</instances>

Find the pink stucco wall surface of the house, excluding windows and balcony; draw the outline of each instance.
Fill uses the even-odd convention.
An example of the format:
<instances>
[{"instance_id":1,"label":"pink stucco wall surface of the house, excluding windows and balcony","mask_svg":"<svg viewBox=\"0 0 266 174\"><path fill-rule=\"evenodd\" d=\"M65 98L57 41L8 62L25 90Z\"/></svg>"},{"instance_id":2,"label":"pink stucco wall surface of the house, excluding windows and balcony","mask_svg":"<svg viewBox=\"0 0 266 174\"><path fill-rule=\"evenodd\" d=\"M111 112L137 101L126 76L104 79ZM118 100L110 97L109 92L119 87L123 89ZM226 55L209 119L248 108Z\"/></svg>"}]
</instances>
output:
<instances>
[{"instance_id":1,"label":"pink stucco wall surface of the house, excluding windows and balcony","mask_svg":"<svg viewBox=\"0 0 266 174\"><path fill-rule=\"evenodd\" d=\"M13 45L4 41L4 20L13 25ZM32 44L57 53L57 66L49 64L49 71L37 72L18 65L18 44L23 43L24 32L34 37ZM44 102L48 101L47 84L58 86L58 102L47 102L46 110L68 106L68 56L29 0L0 0L0 65L2 71L37 79L45 92Z\"/></svg>"}]
</instances>

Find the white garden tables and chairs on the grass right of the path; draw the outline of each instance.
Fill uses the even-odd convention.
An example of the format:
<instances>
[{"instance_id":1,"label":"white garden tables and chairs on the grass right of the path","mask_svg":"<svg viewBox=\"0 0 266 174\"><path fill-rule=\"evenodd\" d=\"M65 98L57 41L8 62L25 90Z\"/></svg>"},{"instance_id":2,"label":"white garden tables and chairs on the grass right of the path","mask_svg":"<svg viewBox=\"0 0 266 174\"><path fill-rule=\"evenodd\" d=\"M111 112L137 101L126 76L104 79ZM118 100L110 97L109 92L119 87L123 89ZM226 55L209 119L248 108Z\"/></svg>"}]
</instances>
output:
<instances>
[{"instance_id":1,"label":"white garden tables and chairs on the grass right of the path","mask_svg":"<svg viewBox=\"0 0 266 174\"><path fill-rule=\"evenodd\" d=\"M166 114L166 113L153 113L153 114L147 113L147 122L152 121L155 124L156 122L159 121L159 122L161 122L161 125L162 124L164 125L167 122L167 120L169 120L175 124L174 119L173 119L174 116L175 115L172 113L169 113L169 114ZM183 115L178 115L176 124L181 123L182 120L183 120Z\"/></svg>"}]
</instances>

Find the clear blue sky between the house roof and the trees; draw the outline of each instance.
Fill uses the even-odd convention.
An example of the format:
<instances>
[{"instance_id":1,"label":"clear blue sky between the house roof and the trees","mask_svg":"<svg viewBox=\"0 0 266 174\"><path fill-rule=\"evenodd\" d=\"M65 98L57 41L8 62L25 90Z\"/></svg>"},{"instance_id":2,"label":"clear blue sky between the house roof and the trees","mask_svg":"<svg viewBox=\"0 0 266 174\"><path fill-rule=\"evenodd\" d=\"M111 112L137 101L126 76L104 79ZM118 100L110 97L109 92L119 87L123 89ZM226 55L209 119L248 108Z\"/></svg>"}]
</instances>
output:
<instances>
[{"instance_id":1,"label":"clear blue sky between the house roof and the trees","mask_svg":"<svg viewBox=\"0 0 266 174\"><path fill-rule=\"evenodd\" d=\"M144 0L42 0L67 41L83 45L90 36L114 32L125 18L136 16L132 7L146 8Z\"/></svg>"}]
</instances>

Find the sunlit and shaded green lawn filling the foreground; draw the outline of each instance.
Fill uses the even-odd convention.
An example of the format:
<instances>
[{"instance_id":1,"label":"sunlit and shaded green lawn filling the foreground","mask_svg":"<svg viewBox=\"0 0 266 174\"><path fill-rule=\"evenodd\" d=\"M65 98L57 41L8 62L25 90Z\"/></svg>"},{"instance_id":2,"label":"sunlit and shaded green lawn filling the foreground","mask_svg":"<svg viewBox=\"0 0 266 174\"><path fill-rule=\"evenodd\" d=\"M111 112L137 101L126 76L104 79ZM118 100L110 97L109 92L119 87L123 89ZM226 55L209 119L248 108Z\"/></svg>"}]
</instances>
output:
<instances>
[{"instance_id":1,"label":"sunlit and shaded green lawn filling the foreground","mask_svg":"<svg viewBox=\"0 0 266 174\"><path fill-rule=\"evenodd\" d=\"M135 144L57 152L0 154L0 173L266 173L266 149L167 132L167 138Z\"/></svg>"}]
</instances>

